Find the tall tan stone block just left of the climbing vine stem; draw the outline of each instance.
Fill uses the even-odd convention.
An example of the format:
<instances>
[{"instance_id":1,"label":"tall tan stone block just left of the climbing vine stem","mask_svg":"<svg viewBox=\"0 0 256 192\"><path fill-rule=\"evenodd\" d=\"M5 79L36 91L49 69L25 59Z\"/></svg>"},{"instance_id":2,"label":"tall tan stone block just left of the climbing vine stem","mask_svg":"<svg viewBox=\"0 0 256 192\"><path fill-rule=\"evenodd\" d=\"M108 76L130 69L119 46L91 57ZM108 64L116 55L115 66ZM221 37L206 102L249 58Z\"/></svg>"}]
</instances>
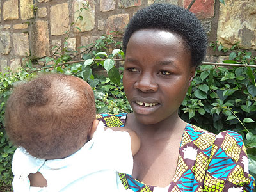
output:
<instances>
[{"instance_id":1,"label":"tall tan stone block just left of the climbing vine stem","mask_svg":"<svg viewBox=\"0 0 256 192\"><path fill-rule=\"evenodd\" d=\"M64 35L70 29L68 3L52 6L50 15L51 35Z\"/></svg>"}]
</instances>

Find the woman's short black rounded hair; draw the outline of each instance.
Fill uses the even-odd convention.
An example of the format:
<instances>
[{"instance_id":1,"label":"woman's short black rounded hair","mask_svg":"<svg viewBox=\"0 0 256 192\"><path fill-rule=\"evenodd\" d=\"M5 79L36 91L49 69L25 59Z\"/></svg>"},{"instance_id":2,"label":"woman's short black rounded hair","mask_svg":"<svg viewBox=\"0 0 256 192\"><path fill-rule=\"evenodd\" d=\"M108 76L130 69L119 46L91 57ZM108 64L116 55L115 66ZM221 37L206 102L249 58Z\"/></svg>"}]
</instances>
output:
<instances>
[{"instance_id":1,"label":"woman's short black rounded hair","mask_svg":"<svg viewBox=\"0 0 256 192\"><path fill-rule=\"evenodd\" d=\"M191 65L198 66L204 60L207 35L196 16L173 4L152 4L139 10L130 20L123 38L123 50L132 34L140 29L164 29L182 36L191 52Z\"/></svg>"}]
</instances>

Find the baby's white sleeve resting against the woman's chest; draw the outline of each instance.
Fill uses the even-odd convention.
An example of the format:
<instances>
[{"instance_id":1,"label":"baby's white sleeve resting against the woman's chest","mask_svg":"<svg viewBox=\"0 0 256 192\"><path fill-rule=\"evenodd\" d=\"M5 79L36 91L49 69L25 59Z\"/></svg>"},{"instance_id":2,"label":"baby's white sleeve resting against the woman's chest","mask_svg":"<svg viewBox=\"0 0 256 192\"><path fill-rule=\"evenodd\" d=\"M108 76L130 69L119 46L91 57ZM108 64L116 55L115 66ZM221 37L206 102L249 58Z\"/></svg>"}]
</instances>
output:
<instances>
[{"instance_id":1,"label":"baby's white sleeve resting against the woman's chest","mask_svg":"<svg viewBox=\"0 0 256 192\"><path fill-rule=\"evenodd\" d=\"M99 130L93 136L93 147L100 152L102 161L116 172L132 174L133 157L131 137L125 131ZM100 128L101 129L101 128Z\"/></svg>"}]
</instances>

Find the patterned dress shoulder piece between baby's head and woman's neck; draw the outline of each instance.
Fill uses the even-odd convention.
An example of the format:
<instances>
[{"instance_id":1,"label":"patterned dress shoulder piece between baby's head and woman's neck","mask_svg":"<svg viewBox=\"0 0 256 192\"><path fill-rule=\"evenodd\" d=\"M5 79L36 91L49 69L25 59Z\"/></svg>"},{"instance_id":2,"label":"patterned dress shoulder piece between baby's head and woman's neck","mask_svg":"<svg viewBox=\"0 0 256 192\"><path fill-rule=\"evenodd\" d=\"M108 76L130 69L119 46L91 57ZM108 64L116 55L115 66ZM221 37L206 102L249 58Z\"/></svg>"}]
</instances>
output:
<instances>
[{"instance_id":1,"label":"patterned dress shoulder piece between baby's head and woman's neck","mask_svg":"<svg viewBox=\"0 0 256 192\"><path fill-rule=\"evenodd\" d=\"M102 121L105 127L124 127L127 113L100 113L96 115L99 121Z\"/></svg>"}]
</instances>

